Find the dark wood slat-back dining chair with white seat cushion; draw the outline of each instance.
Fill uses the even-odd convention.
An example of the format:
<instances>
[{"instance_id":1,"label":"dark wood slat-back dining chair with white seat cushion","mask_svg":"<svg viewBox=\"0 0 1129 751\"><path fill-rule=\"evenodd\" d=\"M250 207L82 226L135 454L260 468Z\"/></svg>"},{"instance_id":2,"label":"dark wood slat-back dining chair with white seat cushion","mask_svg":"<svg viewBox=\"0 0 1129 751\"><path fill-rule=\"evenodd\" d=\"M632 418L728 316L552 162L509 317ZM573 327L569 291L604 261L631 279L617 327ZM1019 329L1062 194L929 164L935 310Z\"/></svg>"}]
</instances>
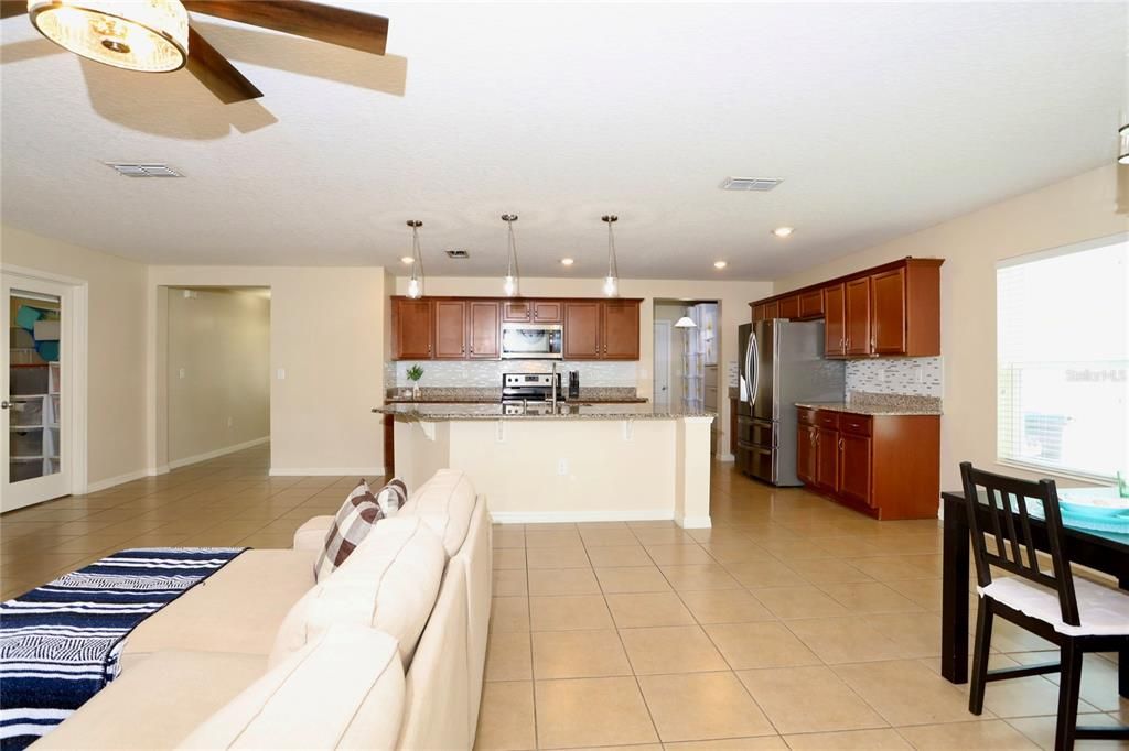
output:
<instances>
[{"instance_id":1,"label":"dark wood slat-back dining chair with white seat cushion","mask_svg":"<svg viewBox=\"0 0 1129 751\"><path fill-rule=\"evenodd\" d=\"M1117 652L1129 644L1129 594L1074 578L1053 480L1032 483L995 475L975 469L968 461L961 463L961 479L968 500L980 594L969 712L974 715L983 712L988 681L1057 672L1060 682L1056 751L1073 749L1078 739L1129 740L1129 727L1078 727L1083 655ZM1039 538L1032 534L1029 507L1032 498L1042 506L1035 519L1041 515L1047 524L1049 568L1045 563L1040 568L1035 548ZM992 581L992 566L1012 576ZM988 670L996 616L1057 645L1059 662Z\"/></svg>"}]
</instances>

